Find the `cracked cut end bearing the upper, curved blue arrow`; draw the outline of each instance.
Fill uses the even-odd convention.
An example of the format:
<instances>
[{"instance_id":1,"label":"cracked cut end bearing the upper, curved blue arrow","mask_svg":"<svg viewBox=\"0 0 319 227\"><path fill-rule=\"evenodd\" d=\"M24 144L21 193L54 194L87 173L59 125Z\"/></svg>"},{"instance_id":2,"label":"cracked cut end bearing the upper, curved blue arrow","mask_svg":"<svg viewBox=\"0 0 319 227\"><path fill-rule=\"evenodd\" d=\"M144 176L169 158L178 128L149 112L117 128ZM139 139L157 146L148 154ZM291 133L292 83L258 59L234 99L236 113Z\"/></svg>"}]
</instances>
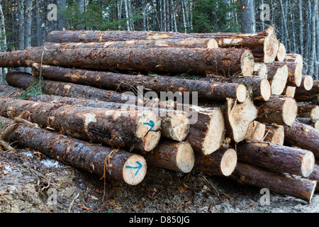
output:
<instances>
[{"instance_id":1,"label":"cracked cut end bearing the upper, curved blue arrow","mask_svg":"<svg viewBox=\"0 0 319 227\"><path fill-rule=\"evenodd\" d=\"M153 150L159 143L161 120L153 111L142 111L138 114L136 137L142 139L143 150Z\"/></svg>"}]
</instances>

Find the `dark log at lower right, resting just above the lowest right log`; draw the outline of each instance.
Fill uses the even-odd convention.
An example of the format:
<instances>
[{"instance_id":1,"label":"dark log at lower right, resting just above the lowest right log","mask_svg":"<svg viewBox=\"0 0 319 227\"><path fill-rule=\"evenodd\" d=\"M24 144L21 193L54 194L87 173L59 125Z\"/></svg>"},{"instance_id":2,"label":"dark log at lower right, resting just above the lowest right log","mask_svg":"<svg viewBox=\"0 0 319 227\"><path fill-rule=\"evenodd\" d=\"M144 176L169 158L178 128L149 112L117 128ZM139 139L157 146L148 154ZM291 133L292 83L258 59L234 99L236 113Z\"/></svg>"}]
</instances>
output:
<instances>
[{"instance_id":1,"label":"dark log at lower right, resting just above the lowest right log","mask_svg":"<svg viewBox=\"0 0 319 227\"><path fill-rule=\"evenodd\" d=\"M315 157L309 150L261 141L238 143L237 156L251 165L301 177L308 177L315 165Z\"/></svg>"}]
</instances>

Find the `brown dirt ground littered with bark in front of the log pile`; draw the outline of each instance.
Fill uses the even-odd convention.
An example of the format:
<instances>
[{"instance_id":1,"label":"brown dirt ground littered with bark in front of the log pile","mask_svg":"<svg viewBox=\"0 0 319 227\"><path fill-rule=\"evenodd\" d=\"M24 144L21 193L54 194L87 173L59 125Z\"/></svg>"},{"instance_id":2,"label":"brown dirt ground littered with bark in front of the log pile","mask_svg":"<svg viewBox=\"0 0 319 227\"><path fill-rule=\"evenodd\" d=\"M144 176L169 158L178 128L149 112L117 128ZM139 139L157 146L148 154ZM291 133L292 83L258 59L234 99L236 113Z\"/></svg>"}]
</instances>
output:
<instances>
[{"instance_id":1,"label":"brown dirt ground littered with bark in front of the log pile","mask_svg":"<svg viewBox=\"0 0 319 227\"><path fill-rule=\"evenodd\" d=\"M0 213L312 213L310 203L223 177L149 167L136 186L100 179L32 150L0 151Z\"/></svg>"}]
</instances>

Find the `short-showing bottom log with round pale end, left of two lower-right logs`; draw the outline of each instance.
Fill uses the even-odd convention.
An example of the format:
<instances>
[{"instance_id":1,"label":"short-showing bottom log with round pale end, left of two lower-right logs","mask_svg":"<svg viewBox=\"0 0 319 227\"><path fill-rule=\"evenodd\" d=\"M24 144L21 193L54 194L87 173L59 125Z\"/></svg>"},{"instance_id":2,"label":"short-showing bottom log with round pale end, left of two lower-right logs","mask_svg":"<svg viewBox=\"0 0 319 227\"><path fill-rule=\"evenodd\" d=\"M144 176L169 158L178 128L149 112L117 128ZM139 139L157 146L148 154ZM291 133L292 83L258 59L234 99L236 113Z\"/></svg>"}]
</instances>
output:
<instances>
[{"instance_id":1,"label":"short-showing bottom log with round pale end, left of two lower-right logs","mask_svg":"<svg viewBox=\"0 0 319 227\"><path fill-rule=\"evenodd\" d=\"M206 175L230 176L237 165L237 154L232 148L219 148L211 155L195 154L194 170Z\"/></svg>"}]
</instances>

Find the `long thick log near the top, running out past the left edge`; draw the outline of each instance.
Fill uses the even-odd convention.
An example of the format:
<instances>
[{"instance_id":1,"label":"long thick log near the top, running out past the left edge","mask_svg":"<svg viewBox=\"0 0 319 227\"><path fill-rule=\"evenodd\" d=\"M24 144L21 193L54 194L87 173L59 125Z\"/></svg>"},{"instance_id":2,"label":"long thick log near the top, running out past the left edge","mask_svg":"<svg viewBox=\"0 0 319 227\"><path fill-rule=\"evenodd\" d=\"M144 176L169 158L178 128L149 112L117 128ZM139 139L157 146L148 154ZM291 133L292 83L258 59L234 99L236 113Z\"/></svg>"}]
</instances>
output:
<instances>
[{"instance_id":1,"label":"long thick log near the top, running out past the left edge","mask_svg":"<svg viewBox=\"0 0 319 227\"><path fill-rule=\"evenodd\" d=\"M29 67L34 62L85 69L246 77L254 70L252 52L239 48L26 49L0 54L0 67Z\"/></svg>"}]
</instances>

